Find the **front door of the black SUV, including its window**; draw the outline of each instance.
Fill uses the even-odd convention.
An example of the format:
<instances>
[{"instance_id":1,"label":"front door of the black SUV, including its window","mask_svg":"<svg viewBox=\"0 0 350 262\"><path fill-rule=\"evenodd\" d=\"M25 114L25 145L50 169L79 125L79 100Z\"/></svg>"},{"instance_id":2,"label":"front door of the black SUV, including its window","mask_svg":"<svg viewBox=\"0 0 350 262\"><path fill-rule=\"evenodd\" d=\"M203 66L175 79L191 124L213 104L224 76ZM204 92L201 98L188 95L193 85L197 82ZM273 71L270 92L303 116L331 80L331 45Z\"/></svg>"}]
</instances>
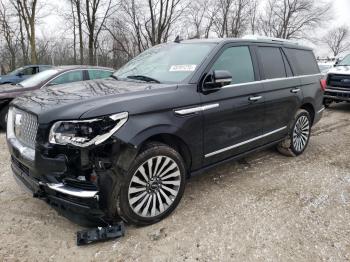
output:
<instances>
[{"instance_id":1,"label":"front door of the black SUV, including its window","mask_svg":"<svg viewBox=\"0 0 350 262\"><path fill-rule=\"evenodd\" d=\"M238 155L260 145L263 134L264 97L249 46L227 46L211 69L226 70L232 83L211 93L201 93L204 117L204 165Z\"/></svg>"}]
</instances>

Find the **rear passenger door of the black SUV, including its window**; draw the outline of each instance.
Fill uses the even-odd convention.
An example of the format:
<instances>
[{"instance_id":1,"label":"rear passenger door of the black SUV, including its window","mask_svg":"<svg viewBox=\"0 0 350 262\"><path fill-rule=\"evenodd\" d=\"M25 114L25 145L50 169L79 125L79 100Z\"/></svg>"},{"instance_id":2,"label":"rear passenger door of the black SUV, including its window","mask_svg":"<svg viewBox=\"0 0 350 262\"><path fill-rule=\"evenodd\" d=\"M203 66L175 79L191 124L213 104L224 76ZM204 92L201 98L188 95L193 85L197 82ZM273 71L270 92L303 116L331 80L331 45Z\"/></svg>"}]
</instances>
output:
<instances>
[{"instance_id":1,"label":"rear passenger door of the black SUV, including its window","mask_svg":"<svg viewBox=\"0 0 350 262\"><path fill-rule=\"evenodd\" d=\"M265 143L280 139L288 132L288 125L303 99L300 79L293 76L290 63L278 46L258 46L260 74L264 87Z\"/></svg>"}]
</instances>

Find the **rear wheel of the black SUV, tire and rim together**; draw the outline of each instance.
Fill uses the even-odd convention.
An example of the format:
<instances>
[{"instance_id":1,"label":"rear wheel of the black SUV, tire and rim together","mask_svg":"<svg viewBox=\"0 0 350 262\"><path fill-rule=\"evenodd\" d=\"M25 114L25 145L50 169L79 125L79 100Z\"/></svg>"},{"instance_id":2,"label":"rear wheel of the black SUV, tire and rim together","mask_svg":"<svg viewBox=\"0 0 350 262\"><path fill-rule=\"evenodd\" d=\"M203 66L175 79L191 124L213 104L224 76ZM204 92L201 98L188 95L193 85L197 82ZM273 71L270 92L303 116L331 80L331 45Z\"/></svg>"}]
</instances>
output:
<instances>
[{"instance_id":1,"label":"rear wheel of the black SUV, tire and rim together","mask_svg":"<svg viewBox=\"0 0 350 262\"><path fill-rule=\"evenodd\" d=\"M288 137L277 145L277 150L286 156L299 156L307 148L310 141L310 135L310 114L304 109L299 109L293 118Z\"/></svg>"}]
</instances>

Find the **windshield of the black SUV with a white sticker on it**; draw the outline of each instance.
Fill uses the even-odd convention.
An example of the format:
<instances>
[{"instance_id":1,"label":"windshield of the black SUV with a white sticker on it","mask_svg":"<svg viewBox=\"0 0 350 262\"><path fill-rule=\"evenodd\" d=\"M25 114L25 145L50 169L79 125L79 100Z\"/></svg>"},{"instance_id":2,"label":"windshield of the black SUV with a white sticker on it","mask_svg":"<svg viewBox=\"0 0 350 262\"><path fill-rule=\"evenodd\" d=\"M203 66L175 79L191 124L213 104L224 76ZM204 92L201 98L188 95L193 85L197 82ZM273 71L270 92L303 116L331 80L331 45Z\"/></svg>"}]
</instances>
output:
<instances>
[{"instance_id":1,"label":"windshield of the black SUV with a white sticker on it","mask_svg":"<svg viewBox=\"0 0 350 262\"><path fill-rule=\"evenodd\" d=\"M191 75L214 48L213 43L170 43L141 53L114 73L118 79L178 83Z\"/></svg>"}]
</instances>

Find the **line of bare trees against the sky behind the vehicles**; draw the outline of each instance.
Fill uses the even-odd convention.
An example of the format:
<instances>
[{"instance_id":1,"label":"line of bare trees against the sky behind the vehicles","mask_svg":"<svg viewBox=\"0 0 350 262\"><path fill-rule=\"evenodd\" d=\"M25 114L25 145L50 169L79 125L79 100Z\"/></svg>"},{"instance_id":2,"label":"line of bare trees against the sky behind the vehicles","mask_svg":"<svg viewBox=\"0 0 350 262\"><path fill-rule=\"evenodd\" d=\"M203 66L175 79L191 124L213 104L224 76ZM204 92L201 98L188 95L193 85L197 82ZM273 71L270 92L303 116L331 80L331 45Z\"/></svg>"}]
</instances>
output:
<instances>
[{"instance_id":1,"label":"line of bare trees against the sky behind the vehicles","mask_svg":"<svg viewBox=\"0 0 350 262\"><path fill-rule=\"evenodd\" d=\"M350 47L349 29L321 30L331 7L322 0L62 0L58 10L45 0L0 0L0 65L2 71L38 63L119 68L178 35L307 39L337 56ZM61 17L61 30L38 35L50 12Z\"/></svg>"}]
</instances>

